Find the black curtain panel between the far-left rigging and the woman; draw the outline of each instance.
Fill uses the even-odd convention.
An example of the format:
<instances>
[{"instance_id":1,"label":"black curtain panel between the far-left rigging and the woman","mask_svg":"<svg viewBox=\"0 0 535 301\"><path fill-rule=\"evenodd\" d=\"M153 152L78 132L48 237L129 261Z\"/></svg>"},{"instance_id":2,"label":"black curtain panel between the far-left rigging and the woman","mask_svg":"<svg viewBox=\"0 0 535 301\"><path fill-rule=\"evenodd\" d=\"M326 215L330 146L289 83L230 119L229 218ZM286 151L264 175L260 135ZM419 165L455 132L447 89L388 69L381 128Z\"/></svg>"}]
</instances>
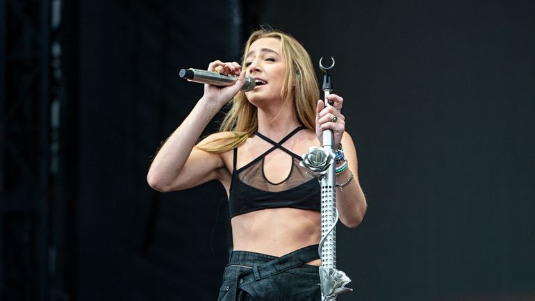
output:
<instances>
[{"instance_id":1,"label":"black curtain panel between the far-left rigging and the woman","mask_svg":"<svg viewBox=\"0 0 535 301\"><path fill-rule=\"evenodd\" d=\"M164 195L145 177L202 88L179 82L179 68L229 56L230 8L82 3L79 300L213 299L228 254L227 224L216 222L222 188ZM197 17L217 35L201 34Z\"/></svg>"}]
</instances>

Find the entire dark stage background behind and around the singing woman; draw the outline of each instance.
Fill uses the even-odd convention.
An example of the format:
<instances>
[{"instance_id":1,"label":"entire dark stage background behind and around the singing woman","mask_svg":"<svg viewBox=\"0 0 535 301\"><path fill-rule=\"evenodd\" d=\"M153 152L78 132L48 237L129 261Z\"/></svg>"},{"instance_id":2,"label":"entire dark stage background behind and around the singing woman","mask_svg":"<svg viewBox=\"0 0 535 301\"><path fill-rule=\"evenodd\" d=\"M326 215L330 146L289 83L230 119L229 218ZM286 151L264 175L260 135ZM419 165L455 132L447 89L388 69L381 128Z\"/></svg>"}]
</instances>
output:
<instances>
[{"instance_id":1,"label":"entire dark stage background behind and around the singing woman","mask_svg":"<svg viewBox=\"0 0 535 301\"><path fill-rule=\"evenodd\" d=\"M520 0L1 0L0 300L215 300L224 190L145 176L202 93L178 71L239 60L259 24L336 59L369 203L338 227L339 300L534 301Z\"/></svg>"}]
</instances>

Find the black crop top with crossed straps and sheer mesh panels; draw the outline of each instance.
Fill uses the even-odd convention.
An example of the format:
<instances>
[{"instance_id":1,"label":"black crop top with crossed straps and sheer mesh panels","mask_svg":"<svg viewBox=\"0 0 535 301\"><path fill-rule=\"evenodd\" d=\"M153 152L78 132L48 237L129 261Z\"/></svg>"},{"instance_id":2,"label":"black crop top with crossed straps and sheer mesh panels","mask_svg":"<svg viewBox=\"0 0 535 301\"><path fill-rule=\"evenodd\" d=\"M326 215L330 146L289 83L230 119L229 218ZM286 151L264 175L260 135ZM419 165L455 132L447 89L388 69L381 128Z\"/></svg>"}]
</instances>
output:
<instances>
[{"instance_id":1,"label":"black crop top with crossed straps and sheer mesh panels","mask_svg":"<svg viewBox=\"0 0 535 301\"><path fill-rule=\"evenodd\" d=\"M320 211L320 184L305 168L299 166L301 156L283 147L290 137L305 127L298 127L284 137L279 143L263 136L256 135L271 143L273 147L236 170L238 149L234 149L234 166L229 191L229 209L231 218L243 213L271 208L290 207ZM264 174L264 158L275 149L281 149L292 156L292 168L288 177L280 183L270 182Z\"/></svg>"}]
</instances>

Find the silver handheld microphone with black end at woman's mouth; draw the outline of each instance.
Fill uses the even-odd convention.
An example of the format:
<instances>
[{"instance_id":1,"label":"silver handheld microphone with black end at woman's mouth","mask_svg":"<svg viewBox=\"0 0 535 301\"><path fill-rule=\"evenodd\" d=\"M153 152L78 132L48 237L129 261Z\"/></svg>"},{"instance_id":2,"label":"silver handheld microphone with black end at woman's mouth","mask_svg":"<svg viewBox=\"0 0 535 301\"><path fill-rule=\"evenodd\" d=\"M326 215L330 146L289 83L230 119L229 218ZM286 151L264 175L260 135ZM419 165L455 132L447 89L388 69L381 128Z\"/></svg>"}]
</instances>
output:
<instances>
[{"instance_id":1,"label":"silver handheld microphone with black end at woman's mouth","mask_svg":"<svg viewBox=\"0 0 535 301\"><path fill-rule=\"evenodd\" d=\"M238 81L238 76L233 74L220 74L218 72L200 70L200 69L181 69L180 78L193 81L195 83L208 83L213 86L232 86ZM254 79L251 76L245 76L245 85L242 91L253 90L255 86Z\"/></svg>"}]
</instances>

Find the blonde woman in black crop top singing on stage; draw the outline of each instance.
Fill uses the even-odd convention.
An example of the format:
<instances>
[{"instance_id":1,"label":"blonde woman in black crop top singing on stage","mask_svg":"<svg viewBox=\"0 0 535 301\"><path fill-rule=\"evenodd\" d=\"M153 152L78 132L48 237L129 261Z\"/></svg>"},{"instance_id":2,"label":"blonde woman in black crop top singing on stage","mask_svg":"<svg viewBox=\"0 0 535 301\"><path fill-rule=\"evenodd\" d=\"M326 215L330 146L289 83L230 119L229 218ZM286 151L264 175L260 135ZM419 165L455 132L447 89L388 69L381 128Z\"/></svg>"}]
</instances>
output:
<instances>
[{"instance_id":1,"label":"blonde woman in black crop top singing on stage","mask_svg":"<svg viewBox=\"0 0 535 301\"><path fill-rule=\"evenodd\" d=\"M334 133L336 205L347 227L360 224L366 200L354 143L340 113L342 97L319 100L311 58L295 38L262 29L247 40L242 65L215 60L209 71L239 75L233 86L205 85L204 95L167 138L147 175L162 192L214 179L227 190L233 252L219 300L320 300L320 184L299 166L308 147ZM254 90L241 92L245 75ZM197 143L220 109L220 132Z\"/></svg>"}]
</instances>

